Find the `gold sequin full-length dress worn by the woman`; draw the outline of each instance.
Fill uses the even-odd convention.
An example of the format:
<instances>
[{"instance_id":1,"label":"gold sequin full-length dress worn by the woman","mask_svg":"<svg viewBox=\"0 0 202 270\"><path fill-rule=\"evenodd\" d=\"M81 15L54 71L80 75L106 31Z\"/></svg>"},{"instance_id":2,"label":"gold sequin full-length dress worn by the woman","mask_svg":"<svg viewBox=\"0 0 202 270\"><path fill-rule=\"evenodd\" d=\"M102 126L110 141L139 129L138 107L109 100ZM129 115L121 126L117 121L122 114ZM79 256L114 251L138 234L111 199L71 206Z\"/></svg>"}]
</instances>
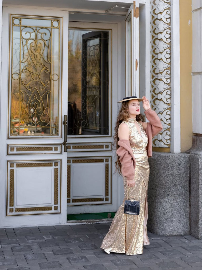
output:
<instances>
[{"instance_id":1,"label":"gold sequin full-length dress worn by the woman","mask_svg":"<svg viewBox=\"0 0 202 270\"><path fill-rule=\"evenodd\" d=\"M101 248L107 251L126 253L127 255L142 254L143 244L149 244L146 227L149 163L145 149L148 138L142 124L136 122L140 126L141 135L138 133L135 122L136 119L131 118L123 121L129 127L130 146L136 161L135 186L128 187L127 180L123 177L125 198L113 218L109 232L106 234L101 245ZM124 201L127 199L140 199L139 215L124 214Z\"/></svg>"}]
</instances>

